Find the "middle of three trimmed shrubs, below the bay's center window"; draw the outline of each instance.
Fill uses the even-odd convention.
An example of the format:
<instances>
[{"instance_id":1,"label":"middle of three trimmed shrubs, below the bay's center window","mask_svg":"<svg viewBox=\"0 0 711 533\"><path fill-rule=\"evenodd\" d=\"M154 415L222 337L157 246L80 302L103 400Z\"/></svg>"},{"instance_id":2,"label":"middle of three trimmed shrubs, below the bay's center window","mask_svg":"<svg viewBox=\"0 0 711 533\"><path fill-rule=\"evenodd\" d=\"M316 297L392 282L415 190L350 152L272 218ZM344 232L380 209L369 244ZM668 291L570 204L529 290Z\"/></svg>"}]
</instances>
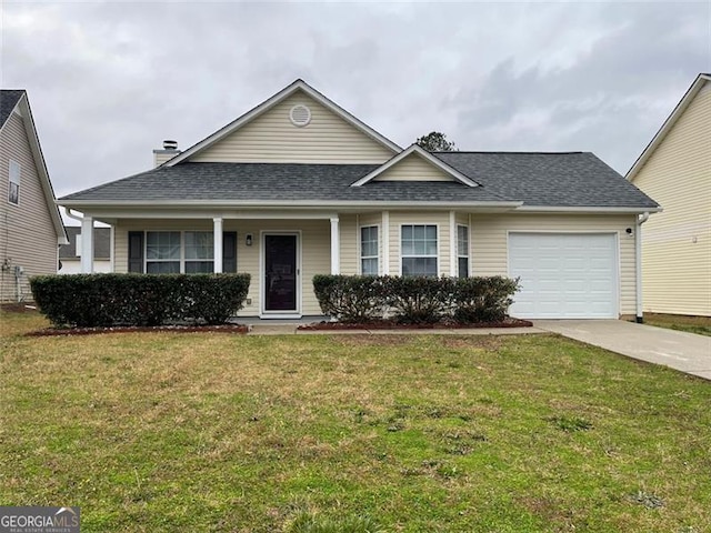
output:
<instances>
[{"instance_id":1,"label":"middle of three trimmed shrubs, below the bay's center window","mask_svg":"<svg viewBox=\"0 0 711 533\"><path fill-rule=\"evenodd\" d=\"M433 324L449 313L454 290L453 278L388 278L387 302L397 322Z\"/></svg>"}]
</instances>

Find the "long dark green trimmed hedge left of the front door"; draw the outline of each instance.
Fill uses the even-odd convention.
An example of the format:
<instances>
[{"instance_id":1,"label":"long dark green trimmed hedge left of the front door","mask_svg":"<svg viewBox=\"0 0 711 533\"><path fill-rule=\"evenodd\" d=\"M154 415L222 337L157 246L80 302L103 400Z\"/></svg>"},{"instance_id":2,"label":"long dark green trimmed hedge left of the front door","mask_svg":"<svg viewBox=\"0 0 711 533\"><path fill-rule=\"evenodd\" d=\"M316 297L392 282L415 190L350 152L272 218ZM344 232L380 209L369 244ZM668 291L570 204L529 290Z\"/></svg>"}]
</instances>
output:
<instances>
[{"instance_id":1,"label":"long dark green trimmed hedge left of the front door","mask_svg":"<svg viewBox=\"0 0 711 533\"><path fill-rule=\"evenodd\" d=\"M242 309L249 274L71 274L30 280L54 325L223 323Z\"/></svg>"}]
</instances>

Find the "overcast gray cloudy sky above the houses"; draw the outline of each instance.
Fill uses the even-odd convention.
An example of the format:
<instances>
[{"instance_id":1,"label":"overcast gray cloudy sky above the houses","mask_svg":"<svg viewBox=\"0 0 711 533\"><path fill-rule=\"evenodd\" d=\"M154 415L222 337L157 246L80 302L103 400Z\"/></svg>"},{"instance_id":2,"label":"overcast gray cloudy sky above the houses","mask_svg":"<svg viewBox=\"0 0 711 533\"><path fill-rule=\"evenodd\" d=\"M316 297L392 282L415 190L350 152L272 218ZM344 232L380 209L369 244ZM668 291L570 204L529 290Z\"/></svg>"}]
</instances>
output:
<instances>
[{"instance_id":1,"label":"overcast gray cloudy sky above the houses","mask_svg":"<svg viewBox=\"0 0 711 533\"><path fill-rule=\"evenodd\" d=\"M152 165L301 78L402 147L592 151L624 174L699 72L711 1L0 4L58 197Z\"/></svg>"}]
</instances>

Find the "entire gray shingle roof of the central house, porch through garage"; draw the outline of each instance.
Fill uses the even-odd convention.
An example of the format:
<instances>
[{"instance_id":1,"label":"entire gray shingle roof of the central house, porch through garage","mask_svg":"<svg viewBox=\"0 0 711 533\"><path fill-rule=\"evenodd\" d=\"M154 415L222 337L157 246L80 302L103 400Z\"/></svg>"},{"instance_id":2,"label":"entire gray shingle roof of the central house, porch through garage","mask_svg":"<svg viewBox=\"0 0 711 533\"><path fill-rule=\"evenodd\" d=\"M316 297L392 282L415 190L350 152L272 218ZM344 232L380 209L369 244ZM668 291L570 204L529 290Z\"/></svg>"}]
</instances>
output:
<instances>
[{"instance_id":1,"label":"entire gray shingle roof of the central house, porch through garage","mask_svg":"<svg viewBox=\"0 0 711 533\"><path fill-rule=\"evenodd\" d=\"M179 163L69 194L66 201L524 202L543 207L657 204L591 153L437 153L482 187L459 182L351 183L374 164Z\"/></svg>"}]
</instances>

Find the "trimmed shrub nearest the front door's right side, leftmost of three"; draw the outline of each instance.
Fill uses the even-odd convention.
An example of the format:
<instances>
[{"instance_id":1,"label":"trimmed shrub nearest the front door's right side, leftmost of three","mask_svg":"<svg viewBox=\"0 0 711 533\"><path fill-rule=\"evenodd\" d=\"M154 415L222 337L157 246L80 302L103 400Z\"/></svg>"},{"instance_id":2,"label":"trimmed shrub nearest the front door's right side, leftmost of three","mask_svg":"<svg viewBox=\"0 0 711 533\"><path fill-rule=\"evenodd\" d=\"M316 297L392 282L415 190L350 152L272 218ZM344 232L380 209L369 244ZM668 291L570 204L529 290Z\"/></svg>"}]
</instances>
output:
<instances>
[{"instance_id":1,"label":"trimmed shrub nearest the front door's right side, leftmost of three","mask_svg":"<svg viewBox=\"0 0 711 533\"><path fill-rule=\"evenodd\" d=\"M384 312L384 283L377 275L313 276L313 292L323 314L344 323L381 319Z\"/></svg>"}]
</instances>

